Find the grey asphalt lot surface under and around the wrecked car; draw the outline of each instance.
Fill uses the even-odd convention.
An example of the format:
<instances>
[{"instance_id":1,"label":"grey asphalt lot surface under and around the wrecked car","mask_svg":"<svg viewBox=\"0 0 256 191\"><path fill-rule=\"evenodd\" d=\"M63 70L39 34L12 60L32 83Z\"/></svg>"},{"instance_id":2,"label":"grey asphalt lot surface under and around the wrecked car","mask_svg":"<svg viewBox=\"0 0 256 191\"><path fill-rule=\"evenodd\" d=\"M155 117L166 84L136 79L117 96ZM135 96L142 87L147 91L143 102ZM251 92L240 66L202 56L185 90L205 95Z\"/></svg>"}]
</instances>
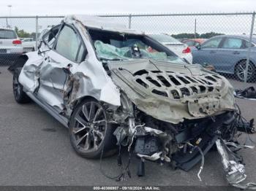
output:
<instances>
[{"instance_id":1,"label":"grey asphalt lot surface under and around the wrecked car","mask_svg":"<svg viewBox=\"0 0 256 191\"><path fill-rule=\"evenodd\" d=\"M197 179L199 165L184 172L146 162L146 176L138 178L135 157L130 165L132 179L116 182L106 178L99 171L99 160L86 160L75 154L67 128L37 104L15 102L12 75L4 67L0 71L0 185L227 185L217 152L206 155L202 182ZM242 82L230 82L245 87ZM256 101L237 102L246 119L255 117ZM256 141L255 135L251 138ZM245 140L246 136L242 136L241 141ZM256 182L255 150L239 153L246 163L247 182ZM102 165L107 174L118 173L116 156L104 159Z\"/></svg>"}]
</instances>

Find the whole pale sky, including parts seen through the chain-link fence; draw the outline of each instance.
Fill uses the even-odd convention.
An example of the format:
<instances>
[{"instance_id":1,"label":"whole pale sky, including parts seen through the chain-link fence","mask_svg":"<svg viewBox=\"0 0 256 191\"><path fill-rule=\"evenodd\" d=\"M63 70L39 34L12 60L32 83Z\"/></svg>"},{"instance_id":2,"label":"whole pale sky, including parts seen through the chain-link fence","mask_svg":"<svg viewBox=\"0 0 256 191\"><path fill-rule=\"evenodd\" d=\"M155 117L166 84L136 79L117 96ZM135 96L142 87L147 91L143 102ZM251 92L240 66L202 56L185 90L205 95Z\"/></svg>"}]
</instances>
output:
<instances>
[{"instance_id":1,"label":"whole pale sky, including parts seen through the chain-link fence","mask_svg":"<svg viewBox=\"0 0 256 191\"><path fill-rule=\"evenodd\" d=\"M8 5L12 5L11 9ZM0 16L72 14L154 14L154 13L216 13L253 12L256 0L0 0ZM112 17L128 26L128 17ZM252 15L214 15L184 17L132 17L132 28L148 33L197 33L249 34ZM0 18L0 27L17 26L24 31L35 31L35 18ZM47 26L59 24L61 18L40 18L39 32ZM256 33L256 22L255 22Z\"/></svg>"}]
</instances>

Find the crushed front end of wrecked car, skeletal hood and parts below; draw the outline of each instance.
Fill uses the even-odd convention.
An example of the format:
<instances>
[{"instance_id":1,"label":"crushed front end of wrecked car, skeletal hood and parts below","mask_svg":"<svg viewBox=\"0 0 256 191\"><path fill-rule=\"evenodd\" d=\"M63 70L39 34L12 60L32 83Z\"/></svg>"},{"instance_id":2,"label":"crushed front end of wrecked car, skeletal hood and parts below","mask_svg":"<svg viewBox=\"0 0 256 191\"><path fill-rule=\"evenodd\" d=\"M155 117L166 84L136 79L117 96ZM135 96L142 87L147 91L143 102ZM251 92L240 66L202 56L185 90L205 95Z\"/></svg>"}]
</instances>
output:
<instances>
[{"instance_id":1,"label":"crushed front end of wrecked car, skeletal hood and parts below","mask_svg":"<svg viewBox=\"0 0 256 191\"><path fill-rule=\"evenodd\" d=\"M145 160L184 171L201 161L201 171L217 141L236 142L239 114L224 77L200 66L151 60L108 67L121 90L121 107L111 117L118 124L114 135L141 159L138 176L145 174Z\"/></svg>"}]
</instances>

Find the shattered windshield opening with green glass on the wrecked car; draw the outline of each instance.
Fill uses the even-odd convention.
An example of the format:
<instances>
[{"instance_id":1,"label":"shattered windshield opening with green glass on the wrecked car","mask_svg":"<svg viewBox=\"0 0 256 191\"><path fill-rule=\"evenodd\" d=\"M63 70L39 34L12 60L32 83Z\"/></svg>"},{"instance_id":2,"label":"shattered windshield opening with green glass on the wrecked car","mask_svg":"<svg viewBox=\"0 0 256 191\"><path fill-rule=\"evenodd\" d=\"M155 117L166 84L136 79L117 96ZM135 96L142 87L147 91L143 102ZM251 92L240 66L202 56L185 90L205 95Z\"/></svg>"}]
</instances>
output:
<instances>
[{"instance_id":1,"label":"shattered windshield opening with green glass on the wrecked car","mask_svg":"<svg viewBox=\"0 0 256 191\"><path fill-rule=\"evenodd\" d=\"M184 63L178 56L148 36L89 30L97 57L101 60L149 58Z\"/></svg>"}]
</instances>

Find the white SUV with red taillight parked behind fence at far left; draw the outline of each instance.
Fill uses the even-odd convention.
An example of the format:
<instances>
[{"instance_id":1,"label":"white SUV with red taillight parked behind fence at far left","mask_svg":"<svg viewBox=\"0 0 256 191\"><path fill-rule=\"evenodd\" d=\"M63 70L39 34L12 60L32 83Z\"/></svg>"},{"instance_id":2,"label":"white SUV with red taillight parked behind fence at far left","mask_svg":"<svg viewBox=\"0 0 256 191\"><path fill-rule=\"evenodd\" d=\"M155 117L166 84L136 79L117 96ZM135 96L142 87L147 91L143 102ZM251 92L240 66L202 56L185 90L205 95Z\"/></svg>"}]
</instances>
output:
<instances>
[{"instance_id":1,"label":"white SUV with red taillight parked behind fence at far left","mask_svg":"<svg viewBox=\"0 0 256 191\"><path fill-rule=\"evenodd\" d=\"M22 42L11 28L0 28L0 62L11 63L23 53Z\"/></svg>"}]
</instances>

